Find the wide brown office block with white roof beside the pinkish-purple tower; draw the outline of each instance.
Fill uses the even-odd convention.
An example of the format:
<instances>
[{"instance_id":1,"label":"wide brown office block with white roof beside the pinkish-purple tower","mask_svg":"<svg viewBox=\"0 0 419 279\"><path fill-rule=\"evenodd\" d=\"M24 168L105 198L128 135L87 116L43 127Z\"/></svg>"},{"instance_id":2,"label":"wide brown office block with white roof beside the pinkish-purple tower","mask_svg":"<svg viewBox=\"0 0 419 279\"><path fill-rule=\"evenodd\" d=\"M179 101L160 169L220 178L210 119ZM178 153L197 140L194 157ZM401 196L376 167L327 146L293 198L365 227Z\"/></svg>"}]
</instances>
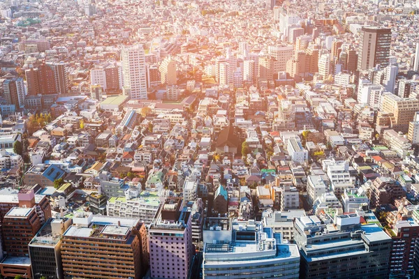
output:
<instances>
[{"instance_id":1,"label":"wide brown office block with white roof beside the pinkish-purple tower","mask_svg":"<svg viewBox=\"0 0 419 279\"><path fill-rule=\"evenodd\" d=\"M75 212L61 239L61 258L65 277L140 279L148 264L145 225Z\"/></svg>"}]
</instances>

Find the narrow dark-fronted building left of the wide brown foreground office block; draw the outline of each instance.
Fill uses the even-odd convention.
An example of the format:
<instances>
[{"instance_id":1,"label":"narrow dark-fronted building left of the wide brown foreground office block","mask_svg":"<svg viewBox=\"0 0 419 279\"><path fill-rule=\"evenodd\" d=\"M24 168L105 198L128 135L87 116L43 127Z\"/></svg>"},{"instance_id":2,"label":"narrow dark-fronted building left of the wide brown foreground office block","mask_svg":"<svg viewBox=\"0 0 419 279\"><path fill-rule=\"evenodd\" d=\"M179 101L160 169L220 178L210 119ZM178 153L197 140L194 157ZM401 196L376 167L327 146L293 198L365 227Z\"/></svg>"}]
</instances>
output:
<instances>
[{"instance_id":1,"label":"narrow dark-fronted building left of the wide brown foreground office block","mask_svg":"<svg viewBox=\"0 0 419 279\"><path fill-rule=\"evenodd\" d=\"M72 220L68 218L51 218L29 243L29 257L35 279L40 279L42 276L47 279L64 278L61 263L61 236L71 223Z\"/></svg>"}]
</instances>

